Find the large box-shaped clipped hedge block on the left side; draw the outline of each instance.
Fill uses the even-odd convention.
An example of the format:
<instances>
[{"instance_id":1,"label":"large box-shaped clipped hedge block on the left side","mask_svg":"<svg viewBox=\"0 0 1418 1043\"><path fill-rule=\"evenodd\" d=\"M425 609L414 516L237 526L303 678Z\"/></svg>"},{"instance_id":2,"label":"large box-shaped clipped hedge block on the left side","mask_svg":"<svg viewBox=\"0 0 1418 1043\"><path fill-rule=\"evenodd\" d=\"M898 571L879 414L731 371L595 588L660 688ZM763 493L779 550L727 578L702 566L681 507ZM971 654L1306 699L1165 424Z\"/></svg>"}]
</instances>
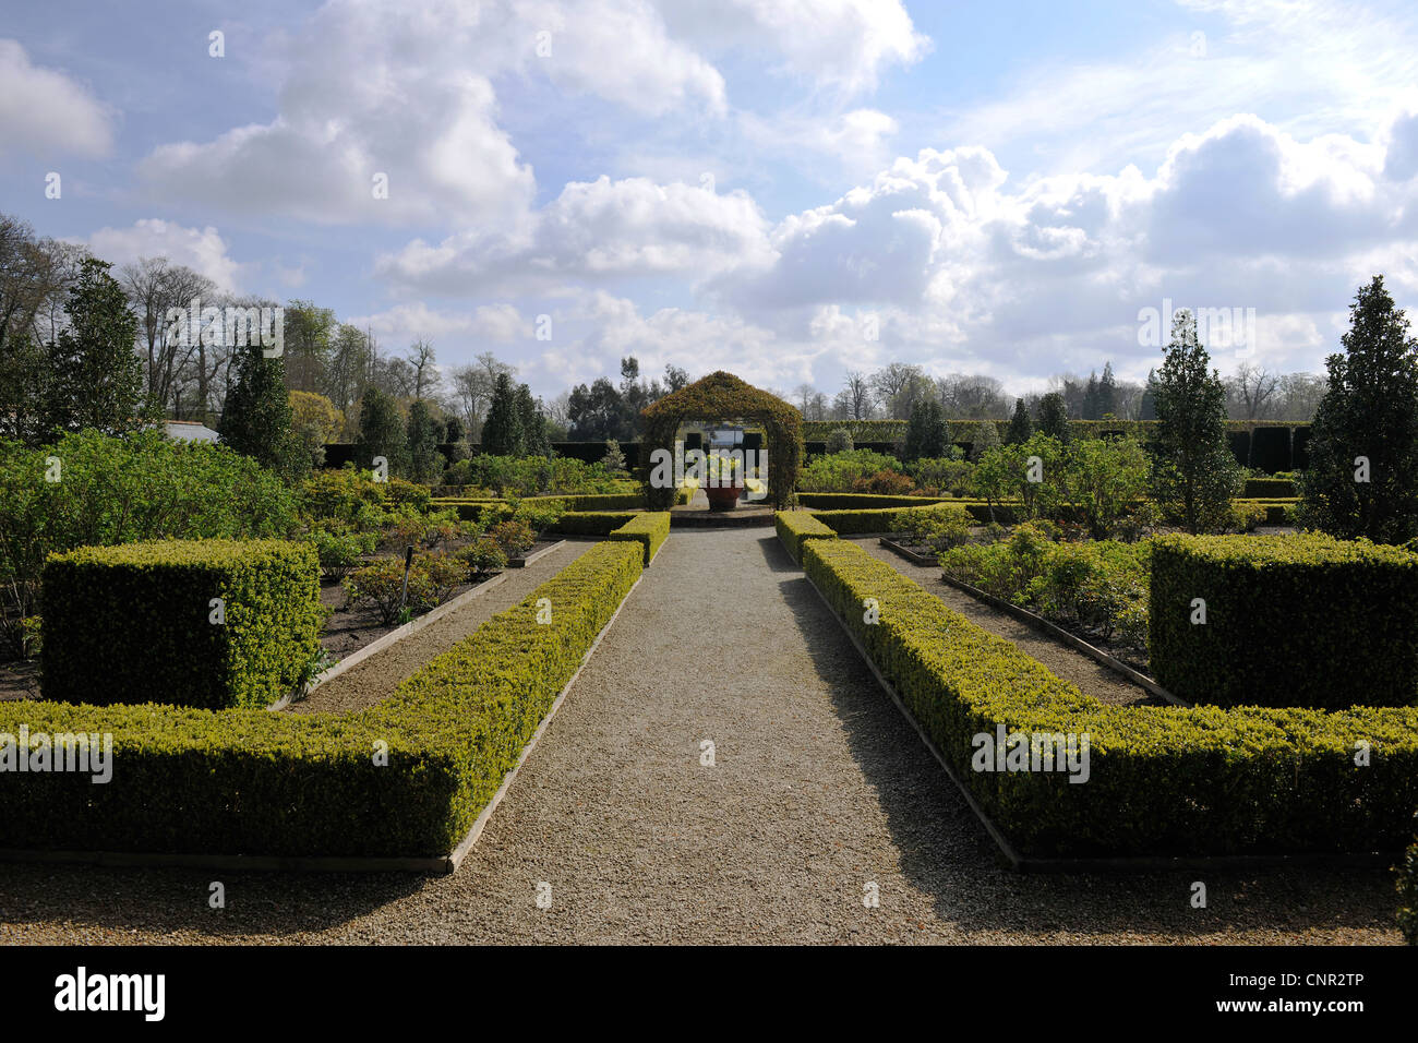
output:
<instances>
[{"instance_id":1,"label":"large box-shaped clipped hedge block on the left side","mask_svg":"<svg viewBox=\"0 0 1418 1043\"><path fill-rule=\"evenodd\" d=\"M308 543L85 546L44 568L41 688L58 702L265 707L315 657L323 622Z\"/></svg>"}]
</instances>

